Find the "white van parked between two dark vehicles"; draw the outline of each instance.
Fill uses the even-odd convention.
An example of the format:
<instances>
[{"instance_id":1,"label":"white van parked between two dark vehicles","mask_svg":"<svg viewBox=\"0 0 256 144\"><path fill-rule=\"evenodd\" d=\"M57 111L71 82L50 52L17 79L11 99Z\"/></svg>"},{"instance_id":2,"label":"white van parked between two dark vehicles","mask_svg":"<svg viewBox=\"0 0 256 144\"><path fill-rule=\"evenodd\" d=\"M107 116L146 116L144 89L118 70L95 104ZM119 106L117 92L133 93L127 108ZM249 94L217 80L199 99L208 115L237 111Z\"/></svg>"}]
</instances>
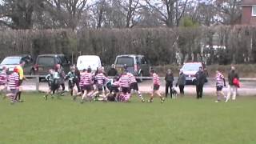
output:
<instances>
[{"instance_id":1,"label":"white van parked between two dark vehicles","mask_svg":"<svg viewBox=\"0 0 256 144\"><path fill-rule=\"evenodd\" d=\"M97 67L102 66L101 59L97 55L81 55L78 57L78 70L87 69L89 66L91 70L97 70Z\"/></svg>"}]
</instances>

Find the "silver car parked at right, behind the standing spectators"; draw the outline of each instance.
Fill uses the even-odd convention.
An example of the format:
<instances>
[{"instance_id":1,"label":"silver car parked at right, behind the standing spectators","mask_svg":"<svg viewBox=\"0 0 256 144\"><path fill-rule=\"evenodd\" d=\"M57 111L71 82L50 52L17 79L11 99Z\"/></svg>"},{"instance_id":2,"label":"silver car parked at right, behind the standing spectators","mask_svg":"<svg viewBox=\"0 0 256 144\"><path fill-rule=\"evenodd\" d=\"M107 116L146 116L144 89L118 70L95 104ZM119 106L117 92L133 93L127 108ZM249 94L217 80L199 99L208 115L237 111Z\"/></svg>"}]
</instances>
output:
<instances>
[{"instance_id":1,"label":"silver car parked at right, behind the standing spectators","mask_svg":"<svg viewBox=\"0 0 256 144\"><path fill-rule=\"evenodd\" d=\"M195 74L198 72L199 67L205 70L206 76L208 75L206 66L202 62L186 62L182 66L183 73L186 75L186 84L194 84L196 82Z\"/></svg>"}]
</instances>

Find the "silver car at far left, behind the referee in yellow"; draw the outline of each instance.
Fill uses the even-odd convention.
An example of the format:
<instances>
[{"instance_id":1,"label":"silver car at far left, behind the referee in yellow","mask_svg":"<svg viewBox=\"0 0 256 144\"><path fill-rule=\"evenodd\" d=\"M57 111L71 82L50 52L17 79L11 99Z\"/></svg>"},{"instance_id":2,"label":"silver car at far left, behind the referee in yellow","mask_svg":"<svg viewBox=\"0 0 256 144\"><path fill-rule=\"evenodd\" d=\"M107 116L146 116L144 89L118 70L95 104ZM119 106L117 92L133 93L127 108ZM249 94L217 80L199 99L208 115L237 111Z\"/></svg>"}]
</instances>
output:
<instances>
[{"instance_id":1,"label":"silver car at far left, behind the referee in yellow","mask_svg":"<svg viewBox=\"0 0 256 144\"><path fill-rule=\"evenodd\" d=\"M33 59L29 54L22 54L4 58L0 64L0 71L2 71L3 66L6 66L8 68L8 74L10 74L14 71L14 68L18 66L21 61L26 62L25 66L23 66L24 74L30 74L31 67L33 66Z\"/></svg>"}]
</instances>

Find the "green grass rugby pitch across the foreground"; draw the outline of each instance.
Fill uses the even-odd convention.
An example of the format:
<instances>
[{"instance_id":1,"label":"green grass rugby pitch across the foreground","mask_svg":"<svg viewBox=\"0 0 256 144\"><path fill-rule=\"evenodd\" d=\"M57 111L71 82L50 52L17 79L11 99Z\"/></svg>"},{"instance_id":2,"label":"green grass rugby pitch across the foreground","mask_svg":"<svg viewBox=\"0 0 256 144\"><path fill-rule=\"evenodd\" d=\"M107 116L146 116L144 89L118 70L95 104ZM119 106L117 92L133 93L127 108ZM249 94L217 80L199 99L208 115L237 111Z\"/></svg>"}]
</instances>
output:
<instances>
[{"instance_id":1,"label":"green grass rugby pitch across the foreground","mask_svg":"<svg viewBox=\"0 0 256 144\"><path fill-rule=\"evenodd\" d=\"M214 97L166 99L153 103L0 101L1 144L55 143L256 143L256 97L214 103Z\"/></svg>"}]
</instances>

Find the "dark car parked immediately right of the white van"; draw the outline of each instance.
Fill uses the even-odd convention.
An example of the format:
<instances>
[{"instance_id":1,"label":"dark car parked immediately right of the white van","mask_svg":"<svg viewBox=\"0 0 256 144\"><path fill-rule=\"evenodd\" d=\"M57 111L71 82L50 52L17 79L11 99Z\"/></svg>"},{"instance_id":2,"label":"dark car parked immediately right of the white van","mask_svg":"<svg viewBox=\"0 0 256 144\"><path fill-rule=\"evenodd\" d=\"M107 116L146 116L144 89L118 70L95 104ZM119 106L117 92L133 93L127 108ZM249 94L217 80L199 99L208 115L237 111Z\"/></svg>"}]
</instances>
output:
<instances>
[{"instance_id":1,"label":"dark car parked immediately right of the white van","mask_svg":"<svg viewBox=\"0 0 256 144\"><path fill-rule=\"evenodd\" d=\"M115 59L114 65L119 73L122 71L122 67L126 65L127 70L134 74L134 76L150 76L150 62L144 55L118 55ZM142 82L142 78L139 78L138 82Z\"/></svg>"}]
</instances>

